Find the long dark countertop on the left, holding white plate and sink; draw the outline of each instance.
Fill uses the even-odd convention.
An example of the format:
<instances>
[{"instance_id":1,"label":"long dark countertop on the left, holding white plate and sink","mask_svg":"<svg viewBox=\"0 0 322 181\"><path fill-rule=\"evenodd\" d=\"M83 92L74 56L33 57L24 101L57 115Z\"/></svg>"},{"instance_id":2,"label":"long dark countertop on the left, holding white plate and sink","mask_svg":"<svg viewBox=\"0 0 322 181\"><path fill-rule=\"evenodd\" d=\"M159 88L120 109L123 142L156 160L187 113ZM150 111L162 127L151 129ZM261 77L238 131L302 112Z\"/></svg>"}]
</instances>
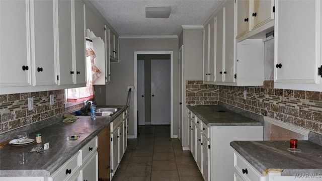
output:
<instances>
[{"instance_id":1,"label":"long dark countertop on the left, holding white plate and sink","mask_svg":"<svg viewBox=\"0 0 322 181\"><path fill-rule=\"evenodd\" d=\"M36 132L29 133L29 137L35 139L36 133L42 134L42 143L31 143L24 146L7 144L0 149L0 176L49 176L79 149L92 140L101 130L118 117L127 106L113 106L120 108L112 116L98 116L96 120L90 117L79 117L73 123L61 121L49 125ZM70 135L80 136L77 140L67 140ZM41 154L30 152L28 162L19 164L19 153L29 152L33 147L43 146L49 143L49 149Z\"/></svg>"}]
</instances>

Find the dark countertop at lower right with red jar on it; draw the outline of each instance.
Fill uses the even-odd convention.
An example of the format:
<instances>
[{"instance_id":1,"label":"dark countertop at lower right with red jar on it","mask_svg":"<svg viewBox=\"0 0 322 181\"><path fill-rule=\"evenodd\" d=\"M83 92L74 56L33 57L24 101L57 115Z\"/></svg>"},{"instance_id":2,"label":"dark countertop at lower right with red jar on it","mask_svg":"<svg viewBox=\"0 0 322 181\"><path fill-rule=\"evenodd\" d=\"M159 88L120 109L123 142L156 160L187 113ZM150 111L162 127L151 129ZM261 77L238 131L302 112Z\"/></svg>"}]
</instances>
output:
<instances>
[{"instance_id":1,"label":"dark countertop at lower right with red jar on it","mask_svg":"<svg viewBox=\"0 0 322 181\"><path fill-rule=\"evenodd\" d=\"M279 169L282 176L322 174L322 146L311 141L298 141L301 152L288 151L289 141L232 141L230 146L263 175Z\"/></svg>"}]
</instances>

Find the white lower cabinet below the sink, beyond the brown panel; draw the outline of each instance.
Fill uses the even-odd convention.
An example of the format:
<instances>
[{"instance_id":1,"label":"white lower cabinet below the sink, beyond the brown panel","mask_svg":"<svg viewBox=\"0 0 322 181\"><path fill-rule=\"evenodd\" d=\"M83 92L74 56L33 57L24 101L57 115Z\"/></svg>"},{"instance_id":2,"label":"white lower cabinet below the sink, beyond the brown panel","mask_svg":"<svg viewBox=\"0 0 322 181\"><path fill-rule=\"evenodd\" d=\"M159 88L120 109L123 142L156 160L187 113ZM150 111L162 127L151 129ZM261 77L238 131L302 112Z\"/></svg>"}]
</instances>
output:
<instances>
[{"instance_id":1,"label":"white lower cabinet below the sink, beyond the brown panel","mask_svg":"<svg viewBox=\"0 0 322 181\"><path fill-rule=\"evenodd\" d=\"M127 148L127 111L119 115L111 123L111 172L110 179L113 178L119 163Z\"/></svg>"}]
</instances>

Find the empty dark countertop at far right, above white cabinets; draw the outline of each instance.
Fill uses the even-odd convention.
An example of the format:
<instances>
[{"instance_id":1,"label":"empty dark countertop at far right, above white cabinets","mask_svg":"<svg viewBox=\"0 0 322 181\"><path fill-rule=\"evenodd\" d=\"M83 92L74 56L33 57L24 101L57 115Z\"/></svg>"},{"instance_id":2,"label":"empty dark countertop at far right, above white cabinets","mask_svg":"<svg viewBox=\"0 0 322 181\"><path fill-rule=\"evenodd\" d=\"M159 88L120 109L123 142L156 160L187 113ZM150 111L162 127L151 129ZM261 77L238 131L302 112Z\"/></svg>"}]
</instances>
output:
<instances>
[{"instance_id":1,"label":"empty dark countertop at far right, above white cabinets","mask_svg":"<svg viewBox=\"0 0 322 181\"><path fill-rule=\"evenodd\" d=\"M219 105L187 106L207 126L262 126L262 122L242 116Z\"/></svg>"}]
</instances>

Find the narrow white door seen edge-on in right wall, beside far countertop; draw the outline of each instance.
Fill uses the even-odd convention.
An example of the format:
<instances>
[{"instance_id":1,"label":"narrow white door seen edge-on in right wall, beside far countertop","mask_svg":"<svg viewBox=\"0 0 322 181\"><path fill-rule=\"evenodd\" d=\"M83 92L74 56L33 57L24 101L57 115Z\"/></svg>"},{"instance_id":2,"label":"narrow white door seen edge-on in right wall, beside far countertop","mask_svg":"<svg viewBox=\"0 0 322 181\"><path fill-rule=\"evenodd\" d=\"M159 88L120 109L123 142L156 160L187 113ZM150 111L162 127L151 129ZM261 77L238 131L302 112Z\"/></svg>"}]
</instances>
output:
<instances>
[{"instance_id":1,"label":"narrow white door seen edge-on in right wall, beside far countertop","mask_svg":"<svg viewBox=\"0 0 322 181\"><path fill-rule=\"evenodd\" d=\"M179 116L178 116L178 123L179 123L179 135L178 139L181 141L182 144L182 139L181 136L183 136L183 129L184 129L184 124L183 124L183 113L182 113L182 96L183 96L183 78L182 78L182 64L183 64L183 45L179 49Z\"/></svg>"}]
</instances>

